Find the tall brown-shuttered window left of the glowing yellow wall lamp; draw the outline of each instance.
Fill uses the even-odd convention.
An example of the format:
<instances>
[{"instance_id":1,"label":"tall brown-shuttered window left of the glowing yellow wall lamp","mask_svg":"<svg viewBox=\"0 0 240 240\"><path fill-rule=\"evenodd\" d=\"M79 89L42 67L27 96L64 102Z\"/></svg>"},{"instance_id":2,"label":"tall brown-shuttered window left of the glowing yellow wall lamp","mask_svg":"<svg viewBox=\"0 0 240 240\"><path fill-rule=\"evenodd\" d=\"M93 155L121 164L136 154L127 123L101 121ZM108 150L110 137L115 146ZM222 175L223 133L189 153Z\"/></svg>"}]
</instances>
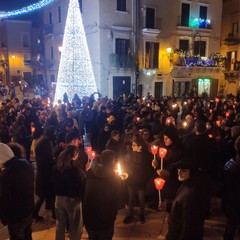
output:
<instances>
[{"instance_id":1,"label":"tall brown-shuttered window left of the glowing yellow wall lamp","mask_svg":"<svg viewBox=\"0 0 240 240\"><path fill-rule=\"evenodd\" d=\"M146 42L145 45L145 68L158 68L159 43Z\"/></svg>"}]
</instances>

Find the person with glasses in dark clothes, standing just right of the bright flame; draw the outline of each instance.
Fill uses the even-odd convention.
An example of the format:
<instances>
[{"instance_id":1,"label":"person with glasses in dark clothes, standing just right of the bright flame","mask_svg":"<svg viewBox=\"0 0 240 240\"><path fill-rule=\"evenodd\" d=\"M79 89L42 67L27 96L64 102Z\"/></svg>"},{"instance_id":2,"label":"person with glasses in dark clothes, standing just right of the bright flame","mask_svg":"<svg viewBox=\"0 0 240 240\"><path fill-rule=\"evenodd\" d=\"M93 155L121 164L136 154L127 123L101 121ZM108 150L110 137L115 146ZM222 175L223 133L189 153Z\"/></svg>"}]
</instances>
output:
<instances>
[{"instance_id":1,"label":"person with glasses in dark clothes, standing just right of the bright flame","mask_svg":"<svg viewBox=\"0 0 240 240\"><path fill-rule=\"evenodd\" d=\"M134 200L138 196L140 205L139 220L145 222L145 189L148 181L153 176L151 167L152 154L148 151L148 146L142 138L135 138L132 142L132 151L126 161L126 169L129 177L128 187L128 215L124 219L124 224L134 221Z\"/></svg>"}]
</instances>

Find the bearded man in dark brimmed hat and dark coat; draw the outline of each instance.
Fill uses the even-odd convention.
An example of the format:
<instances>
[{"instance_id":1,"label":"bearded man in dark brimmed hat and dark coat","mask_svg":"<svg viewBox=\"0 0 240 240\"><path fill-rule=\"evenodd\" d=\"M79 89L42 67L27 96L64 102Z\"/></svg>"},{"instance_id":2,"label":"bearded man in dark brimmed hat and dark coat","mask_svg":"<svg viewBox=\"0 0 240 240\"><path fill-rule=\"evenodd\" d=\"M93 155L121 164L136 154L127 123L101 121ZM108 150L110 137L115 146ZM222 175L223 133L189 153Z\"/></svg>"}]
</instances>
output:
<instances>
[{"instance_id":1,"label":"bearded man in dark brimmed hat and dark coat","mask_svg":"<svg viewBox=\"0 0 240 240\"><path fill-rule=\"evenodd\" d=\"M166 240L202 240L210 178L189 156L173 164L182 183L173 201Z\"/></svg>"}]
</instances>

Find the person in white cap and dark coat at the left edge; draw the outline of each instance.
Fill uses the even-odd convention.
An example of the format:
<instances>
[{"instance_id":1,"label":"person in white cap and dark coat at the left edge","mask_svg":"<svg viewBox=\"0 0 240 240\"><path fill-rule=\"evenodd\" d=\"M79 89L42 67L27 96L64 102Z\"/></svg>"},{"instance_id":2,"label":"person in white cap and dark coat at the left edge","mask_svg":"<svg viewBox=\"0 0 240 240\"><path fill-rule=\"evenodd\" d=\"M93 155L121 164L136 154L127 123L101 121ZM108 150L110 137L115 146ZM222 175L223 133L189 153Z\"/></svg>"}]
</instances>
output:
<instances>
[{"instance_id":1,"label":"person in white cap and dark coat at the left edge","mask_svg":"<svg viewBox=\"0 0 240 240\"><path fill-rule=\"evenodd\" d=\"M13 142L9 146L0 143L0 220L10 239L32 240L34 172L22 159L23 147Z\"/></svg>"}]
</instances>

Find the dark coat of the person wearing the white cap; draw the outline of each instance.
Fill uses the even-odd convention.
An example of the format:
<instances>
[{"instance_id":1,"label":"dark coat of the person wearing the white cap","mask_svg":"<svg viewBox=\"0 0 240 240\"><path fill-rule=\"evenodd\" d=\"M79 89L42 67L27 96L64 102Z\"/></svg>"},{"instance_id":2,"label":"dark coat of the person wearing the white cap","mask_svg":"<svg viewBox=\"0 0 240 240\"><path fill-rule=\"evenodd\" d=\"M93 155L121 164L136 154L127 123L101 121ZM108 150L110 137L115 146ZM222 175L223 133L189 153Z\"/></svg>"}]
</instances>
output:
<instances>
[{"instance_id":1,"label":"dark coat of the person wearing the white cap","mask_svg":"<svg viewBox=\"0 0 240 240\"><path fill-rule=\"evenodd\" d=\"M0 172L0 219L5 225L18 223L33 213L34 173L22 159L12 158Z\"/></svg>"}]
</instances>

